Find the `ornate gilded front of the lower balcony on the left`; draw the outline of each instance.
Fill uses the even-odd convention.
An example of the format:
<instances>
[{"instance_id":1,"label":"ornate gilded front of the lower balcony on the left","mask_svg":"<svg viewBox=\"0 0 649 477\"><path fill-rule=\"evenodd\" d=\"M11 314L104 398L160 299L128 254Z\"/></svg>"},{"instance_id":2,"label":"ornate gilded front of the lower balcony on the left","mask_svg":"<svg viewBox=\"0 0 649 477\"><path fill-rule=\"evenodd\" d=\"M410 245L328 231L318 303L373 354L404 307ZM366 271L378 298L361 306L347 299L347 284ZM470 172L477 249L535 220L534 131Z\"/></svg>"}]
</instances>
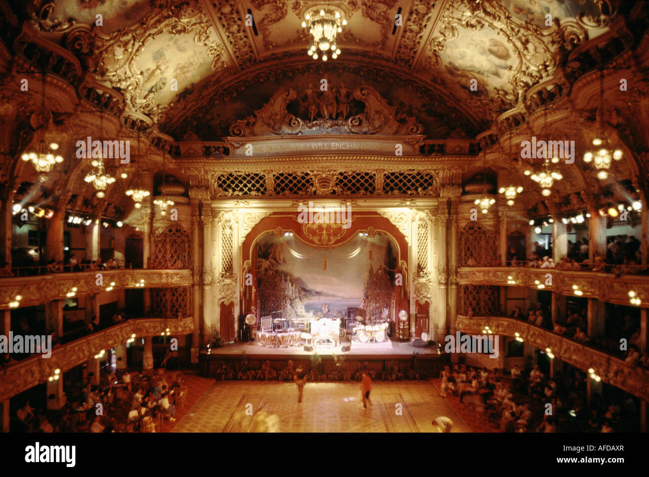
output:
<instances>
[{"instance_id":1,"label":"ornate gilded front of the lower balcony on the left","mask_svg":"<svg viewBox=\"0 0 649 477\"><path fill-rule=\"evenodd\" d=\"M54 347L49 358L38 354L0 369L0 401L21 393L30 387L47 382L55 369L61 373L85 363L101 350L123 345L132 335L138 338L159 336L169 328L171 335L189 334L194 329L193 318L160 319L136 318L116 324L106 330Z\"/></svg>"}]
</instances>

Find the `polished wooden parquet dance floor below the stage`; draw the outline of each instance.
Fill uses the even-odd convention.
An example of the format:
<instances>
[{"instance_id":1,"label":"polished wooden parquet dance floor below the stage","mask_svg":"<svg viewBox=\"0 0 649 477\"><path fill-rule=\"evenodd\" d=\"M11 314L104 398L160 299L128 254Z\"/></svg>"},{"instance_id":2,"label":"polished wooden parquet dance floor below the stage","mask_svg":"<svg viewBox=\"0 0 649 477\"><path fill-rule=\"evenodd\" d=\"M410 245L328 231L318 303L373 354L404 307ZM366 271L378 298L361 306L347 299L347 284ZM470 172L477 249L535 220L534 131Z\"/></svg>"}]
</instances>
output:
<instances>
[{"instance_id":1,"label":"polished wooden parquet dance floor below the stage","mask_svg":"<svg viewBox=\"0 0 649 477\"><path fill-rule=\"evenodd\" d=\"M276 432L439 432L432 420L441 415L454 422L451 432L471 432L428 381L377 381L370 397L364 409L358 382L307 382L299 403L293 383L217 381L172 432L255 432L258 413Z\"/></svg>"}]
</instances>

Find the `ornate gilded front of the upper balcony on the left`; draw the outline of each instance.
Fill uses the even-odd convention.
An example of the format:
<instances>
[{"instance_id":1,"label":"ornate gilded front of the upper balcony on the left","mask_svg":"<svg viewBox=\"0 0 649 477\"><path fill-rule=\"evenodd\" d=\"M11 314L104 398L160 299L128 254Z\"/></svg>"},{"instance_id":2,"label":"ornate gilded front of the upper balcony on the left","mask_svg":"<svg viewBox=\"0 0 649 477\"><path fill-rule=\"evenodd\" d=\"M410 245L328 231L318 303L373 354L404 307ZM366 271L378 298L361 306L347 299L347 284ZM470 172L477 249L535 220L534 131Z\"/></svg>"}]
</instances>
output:
<instances>
[{"instance_id":1,"label":"ornate gilded front of the upper balcony on the left","mask_svg":"<svg viewBox=\"0 0 649 477\"><path fill-rule=\"evenodd\" d=\"M88 270L75 273L53 273L40 276L10 276L0 278L0 310L9 302L22 297L20 306L34 306L52 300L93 295L107 288L165 288L193 284L191 270L116 269Z\"/></svg>"}]
</instances>

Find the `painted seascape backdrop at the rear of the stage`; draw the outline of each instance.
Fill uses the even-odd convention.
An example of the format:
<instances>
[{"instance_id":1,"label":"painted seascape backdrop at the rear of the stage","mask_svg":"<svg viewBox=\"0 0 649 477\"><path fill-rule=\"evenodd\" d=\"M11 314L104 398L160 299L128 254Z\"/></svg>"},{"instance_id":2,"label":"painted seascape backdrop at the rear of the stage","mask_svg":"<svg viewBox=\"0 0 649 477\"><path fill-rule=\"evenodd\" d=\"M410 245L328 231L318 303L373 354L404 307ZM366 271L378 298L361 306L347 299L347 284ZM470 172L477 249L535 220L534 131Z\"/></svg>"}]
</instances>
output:
<instances>
[{"instance_id":1,"label":"painted seascape backdrop at the rear of the stage","mask_svg":"<svg viewBox=\"0 0 649 477\"><path fill-rule=\"evenodd\" d=\"M361 308L371 319L391 319L394 310L395 246L388 236L365 235L318 249L293 236L263 236L257 244L260 316L347 317Z\"/></svg>"}]
</instances>

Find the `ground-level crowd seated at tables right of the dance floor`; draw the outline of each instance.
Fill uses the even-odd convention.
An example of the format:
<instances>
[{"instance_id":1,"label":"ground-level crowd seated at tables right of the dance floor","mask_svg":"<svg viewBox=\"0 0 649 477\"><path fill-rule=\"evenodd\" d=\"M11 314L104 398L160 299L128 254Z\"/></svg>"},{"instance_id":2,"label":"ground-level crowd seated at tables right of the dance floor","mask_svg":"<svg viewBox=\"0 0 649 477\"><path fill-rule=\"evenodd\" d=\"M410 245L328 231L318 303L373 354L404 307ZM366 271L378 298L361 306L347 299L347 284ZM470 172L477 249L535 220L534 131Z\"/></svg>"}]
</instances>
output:
<instances>
[{"instance_id":1,"label":"ground-level crowd seated at tables right of the dance floor","mask_svg":"<svg viewBox=\"0 0 649 477\"><path fill-rule=\"evenodd\" d=\"M441 395L458 395L459 402L484 410L504 432L635 432L639 415L627 393L605 400L586 399L586 376L570 368L550 378L538 365L513 367L507 375L486 368L455 365L441 373ZM547 404L552 414L546 413Z\"/></svg>"}]
</instances>

